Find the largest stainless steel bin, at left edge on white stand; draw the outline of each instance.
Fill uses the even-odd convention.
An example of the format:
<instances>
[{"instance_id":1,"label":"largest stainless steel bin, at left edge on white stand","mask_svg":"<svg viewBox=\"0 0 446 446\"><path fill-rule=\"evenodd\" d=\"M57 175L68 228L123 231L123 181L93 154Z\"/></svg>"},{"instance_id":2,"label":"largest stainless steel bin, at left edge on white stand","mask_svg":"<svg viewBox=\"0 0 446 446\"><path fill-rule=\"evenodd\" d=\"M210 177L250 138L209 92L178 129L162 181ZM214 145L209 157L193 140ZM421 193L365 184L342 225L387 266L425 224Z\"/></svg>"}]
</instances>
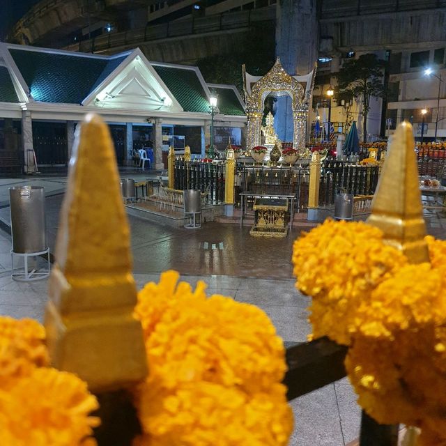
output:
<instances>
[{"instance_id":1,"label":"largest stainless steel bin, at left edge on white stand","mask_svg":"<svg viewBox=\"0 0 446 446\"><path fill-rule=\"evenodd\" d=\"M43 187L10 187L13 252L29 254L47 249L45 192Z\"/></svg>"}]
</instances>

